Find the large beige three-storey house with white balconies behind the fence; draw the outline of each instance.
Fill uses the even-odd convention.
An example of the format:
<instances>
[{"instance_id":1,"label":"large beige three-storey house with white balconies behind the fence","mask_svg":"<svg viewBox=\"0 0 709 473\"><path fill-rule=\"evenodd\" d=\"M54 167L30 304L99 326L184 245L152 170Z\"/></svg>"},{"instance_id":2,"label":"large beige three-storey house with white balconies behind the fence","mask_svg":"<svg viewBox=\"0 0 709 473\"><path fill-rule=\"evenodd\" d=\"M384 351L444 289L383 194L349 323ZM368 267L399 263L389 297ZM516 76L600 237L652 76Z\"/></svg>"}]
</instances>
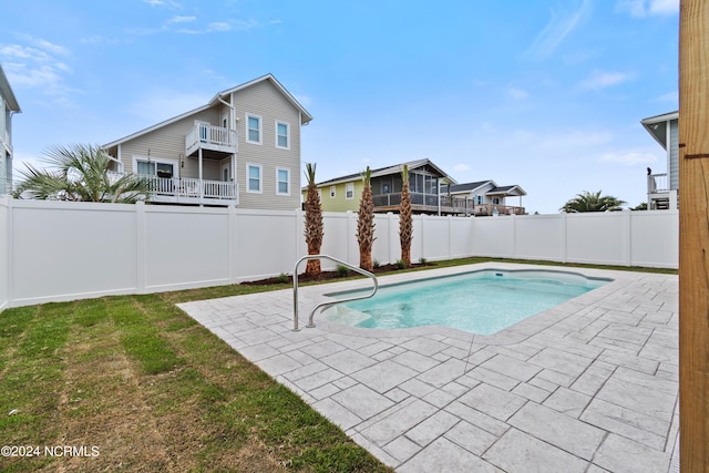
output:
<instances>
[{"instance_id":1,"label":"large beige three-storey house with white balconies behind the fence","mask_svg":"<svg viewBox=\"0 0 709 473\"><path fill-rule=\"evenodd\" d=\"M300 127L312 116L274 78L104 145L114 172L148 176L155 203L300 206Z\"/></svg>"}]
</instances>

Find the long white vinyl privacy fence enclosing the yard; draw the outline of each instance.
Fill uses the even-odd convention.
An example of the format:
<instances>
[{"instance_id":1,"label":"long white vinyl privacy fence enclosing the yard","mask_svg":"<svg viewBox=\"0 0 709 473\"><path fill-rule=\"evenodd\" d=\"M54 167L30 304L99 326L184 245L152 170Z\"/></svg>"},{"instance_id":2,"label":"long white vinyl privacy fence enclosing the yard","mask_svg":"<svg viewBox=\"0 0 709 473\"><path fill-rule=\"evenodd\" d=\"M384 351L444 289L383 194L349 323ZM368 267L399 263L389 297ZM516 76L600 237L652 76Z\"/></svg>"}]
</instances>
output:
<instances>
[{"instance_id":1,"label":"long white vinyl privacy fence enclosing the yard","mask_svg":"<svg viewBox=\"0 0 709 473\"><path fill-rule=\"evenodd\" d=\"M357 214L323 217L322 253L358 265ZM399 216L377 215L374 222L373 258L394 263L400 257ZM492 256L677 268L678 222L675 210L414 216L411 256L414 261ZM306 253L301 210L6 196L0 197L0 310L290 274Z\"/></svg>"}]
</instances>

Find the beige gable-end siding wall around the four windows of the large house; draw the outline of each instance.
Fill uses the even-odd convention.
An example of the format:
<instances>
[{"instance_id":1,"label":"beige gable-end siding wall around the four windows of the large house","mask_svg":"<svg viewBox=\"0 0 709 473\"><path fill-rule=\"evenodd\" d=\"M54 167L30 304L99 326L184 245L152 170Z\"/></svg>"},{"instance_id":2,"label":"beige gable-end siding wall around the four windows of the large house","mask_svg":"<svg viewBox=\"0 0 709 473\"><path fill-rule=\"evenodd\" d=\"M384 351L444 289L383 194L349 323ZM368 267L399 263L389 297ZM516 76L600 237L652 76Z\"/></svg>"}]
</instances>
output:
<instances>
[{"instance_id":1,"label":"beige gable-end siding wall around the four windows of the large house","mask_svg":"<svg viewBox=\"0 0 709 473\"><path fill-rule=\"evenodd\" d=\"M300 208L300 114L298 110L270 83L263 81L233 94L238 117L239 152L236 178L239 185L239 207L255 209L292 210ZM246 114L261 117L261 144L246 141ZM286 122L290 130L290 148L276 147L276 121ZM248 193L247 163L263 168L260 194ZM276 194L277 168L290 171L290 195Z\"/></svg>"}]
</instances>

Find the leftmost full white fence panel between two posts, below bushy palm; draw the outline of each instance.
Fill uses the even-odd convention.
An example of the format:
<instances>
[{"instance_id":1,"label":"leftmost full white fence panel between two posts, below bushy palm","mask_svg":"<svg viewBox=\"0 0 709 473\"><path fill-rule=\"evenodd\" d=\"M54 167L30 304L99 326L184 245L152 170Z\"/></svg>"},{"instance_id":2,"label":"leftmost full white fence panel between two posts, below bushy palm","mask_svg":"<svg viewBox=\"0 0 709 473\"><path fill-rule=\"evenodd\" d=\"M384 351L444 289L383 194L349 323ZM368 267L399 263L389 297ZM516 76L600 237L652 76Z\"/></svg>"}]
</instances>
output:
<instances>
[{"instance_id":1,"label":"leftmost full white fence panel between two posts, below bushy palm","mask_svg":"<svg viewBox=\"0 0 709 473\"><path fill-rule=\"evenodd\" d=\"M137 291L134 205L12 203L12 305Z\"/></svg>"}]
</instances>

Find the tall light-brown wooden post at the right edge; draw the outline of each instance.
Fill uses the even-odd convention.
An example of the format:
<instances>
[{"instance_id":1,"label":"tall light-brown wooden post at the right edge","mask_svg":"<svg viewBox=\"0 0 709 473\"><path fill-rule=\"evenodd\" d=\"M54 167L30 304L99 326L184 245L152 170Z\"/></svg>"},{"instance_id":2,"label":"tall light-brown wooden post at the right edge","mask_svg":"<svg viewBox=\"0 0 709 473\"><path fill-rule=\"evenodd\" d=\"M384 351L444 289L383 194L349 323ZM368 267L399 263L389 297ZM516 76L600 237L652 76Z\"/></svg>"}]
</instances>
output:
<instances>
[{"instance_id":1,"label":"tall light-brown wooden post at the right edge","mask_svg":"<svg viewBox=\"0 0 709 473\"><path fill-rule=\"evenodd\" d=\"M709 2L679 6L679 442L709 472Z\"/></svg>"}]
</instances>

